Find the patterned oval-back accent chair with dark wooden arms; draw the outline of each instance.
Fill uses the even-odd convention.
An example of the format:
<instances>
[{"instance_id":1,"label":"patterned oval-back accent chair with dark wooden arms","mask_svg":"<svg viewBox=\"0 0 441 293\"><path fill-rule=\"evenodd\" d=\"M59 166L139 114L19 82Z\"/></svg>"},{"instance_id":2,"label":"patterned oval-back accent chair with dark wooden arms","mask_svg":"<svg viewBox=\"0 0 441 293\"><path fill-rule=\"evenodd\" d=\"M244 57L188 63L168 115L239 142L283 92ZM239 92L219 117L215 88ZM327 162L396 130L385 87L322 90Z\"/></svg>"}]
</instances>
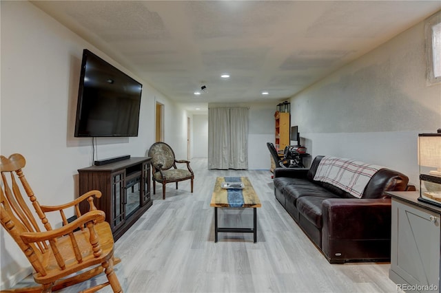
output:
<instances>
[{"instance_id":1,"label":"patterned oval-back accent chair with dark wooden arms","mask_svg":"<svg viewBox=\"0 0 441 293\"><path fill-rule=\"evenodd\" d=\"M156 182L163 184L163 199L165 199L165 184L184 180L192 180L191 188L193 193L194 173L190 168L190 161L176 160L173 149L165 142L155 142L150 146L148 156L152 158L152 181L153 194L156 193ZM176 163L187 164L187 169L178 169Z\"/></svg>"}]
</instances>

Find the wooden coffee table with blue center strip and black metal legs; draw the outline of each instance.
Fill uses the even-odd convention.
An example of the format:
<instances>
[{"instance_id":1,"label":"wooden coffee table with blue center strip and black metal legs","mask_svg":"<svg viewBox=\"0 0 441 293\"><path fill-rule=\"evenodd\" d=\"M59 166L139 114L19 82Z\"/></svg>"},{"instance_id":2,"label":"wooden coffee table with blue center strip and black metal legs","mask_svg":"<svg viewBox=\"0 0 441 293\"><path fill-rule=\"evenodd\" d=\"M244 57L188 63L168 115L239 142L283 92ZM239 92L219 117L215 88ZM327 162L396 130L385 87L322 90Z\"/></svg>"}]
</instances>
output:
<instances>
[{"instance_id":1,"label":"wooden coffee table with blue center strip and black metal legs","mask_svg":"<svg viewBox=\"0 0 441 293\"><path fill-rule=\"evenodd\" d=\"M223 188L225 182L232 184L242 183L241 188ZM249 182L248 177L217 177L214 184L212 202L209 204L214 207L214 242L218 241L218 232L238 232L253 233L254 243L257 242L257 210L262 204ZM253 208L253 228L219 228L218 227L218 208Z\"/></svg>"}]
</instances>

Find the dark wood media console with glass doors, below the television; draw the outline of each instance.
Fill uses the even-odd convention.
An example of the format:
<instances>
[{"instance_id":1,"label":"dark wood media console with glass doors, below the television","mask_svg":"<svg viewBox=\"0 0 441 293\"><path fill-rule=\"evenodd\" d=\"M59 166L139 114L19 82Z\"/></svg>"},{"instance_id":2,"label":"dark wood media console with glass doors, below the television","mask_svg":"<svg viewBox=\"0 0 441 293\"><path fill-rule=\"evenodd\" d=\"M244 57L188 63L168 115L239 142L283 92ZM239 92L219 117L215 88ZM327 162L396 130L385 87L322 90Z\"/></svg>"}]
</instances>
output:
<instances>
[{"instance_id":1,"label":"dark wood media console with glass doors, below the television","mask_svg":"<svg viewBox=\"0 0 441 293\"><path fill-rule=\"evenodd\" d=\"M101 166L79 169L79 193L99 190L103 196L94 202L103 210L116 241L152 206L150 197L151 158L130 158ZM88 202L80 205L87 213Z\"/></svg>"}]
</instances>

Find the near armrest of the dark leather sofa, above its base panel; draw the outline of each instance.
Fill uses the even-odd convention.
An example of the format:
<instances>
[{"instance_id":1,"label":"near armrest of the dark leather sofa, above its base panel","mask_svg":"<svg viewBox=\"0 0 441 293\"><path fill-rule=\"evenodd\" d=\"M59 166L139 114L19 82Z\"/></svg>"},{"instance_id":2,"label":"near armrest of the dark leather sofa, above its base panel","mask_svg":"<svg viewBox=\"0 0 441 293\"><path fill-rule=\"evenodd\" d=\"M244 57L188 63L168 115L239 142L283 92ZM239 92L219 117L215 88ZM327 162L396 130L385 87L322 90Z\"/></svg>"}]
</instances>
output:
<instances>
[{"instance_id":1,"label":"near armrest of the dark leather sofa, above its base panel","mask_svg":"<svg viewBox=\"0 0 441 293\"><path fill-rule=\"evenodd\" d=\"M322 220L324 239L390 239L391 199L325 199Z\"/></svg>"}]
</instances>

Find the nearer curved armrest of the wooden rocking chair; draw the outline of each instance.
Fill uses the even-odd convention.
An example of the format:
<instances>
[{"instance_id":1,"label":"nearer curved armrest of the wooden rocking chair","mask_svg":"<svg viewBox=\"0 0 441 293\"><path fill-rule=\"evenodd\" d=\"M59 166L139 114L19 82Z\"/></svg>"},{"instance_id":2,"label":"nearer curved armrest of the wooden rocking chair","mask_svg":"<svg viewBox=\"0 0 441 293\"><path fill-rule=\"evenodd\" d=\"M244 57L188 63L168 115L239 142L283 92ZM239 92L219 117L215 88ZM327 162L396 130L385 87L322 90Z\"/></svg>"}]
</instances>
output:
<instances>
[{"instance_id":1,"label":"nearer curved armrest of the wooden rocking chair","mask_svg":"<svg viewBox=\"0 0 441 293\"><path fill-rule=\"evenodd\" d=\"M58 237L68 235L69 233L74 232L76 228L80 228L84 224L92 221L96 221L97 223L104 221L105 213L102 210L92 210L88 213L85 213L78 219L75 219L71 223L62 226L60 228L44 231L44 232L24 232L21 233L20 237L25 243L34 243L39 241L49 241L56 239Z\"/></svg>"}]
</instances>

